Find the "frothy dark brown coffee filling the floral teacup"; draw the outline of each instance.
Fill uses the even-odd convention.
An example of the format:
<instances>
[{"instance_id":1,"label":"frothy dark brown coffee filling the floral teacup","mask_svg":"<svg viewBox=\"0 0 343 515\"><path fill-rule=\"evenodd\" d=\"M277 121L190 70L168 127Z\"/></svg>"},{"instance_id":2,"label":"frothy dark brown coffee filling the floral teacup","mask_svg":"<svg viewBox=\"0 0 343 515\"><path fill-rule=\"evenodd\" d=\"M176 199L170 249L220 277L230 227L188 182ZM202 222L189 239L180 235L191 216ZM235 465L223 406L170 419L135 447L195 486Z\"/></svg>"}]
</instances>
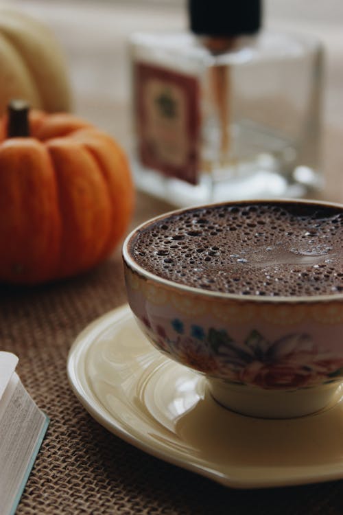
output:
<instances>
[{"instance_id":1,"label":"frothy dark brown coffee filling the floral teacup","mask_svg":"<svg viewBox=\"0 0 343 515\"><path fill-rule=\"evenodd\" d=\"M132 258L154 275L235 295L343 293L343 211L287 203L193 208L139 230Z\"/></svg>"}]
</instances>

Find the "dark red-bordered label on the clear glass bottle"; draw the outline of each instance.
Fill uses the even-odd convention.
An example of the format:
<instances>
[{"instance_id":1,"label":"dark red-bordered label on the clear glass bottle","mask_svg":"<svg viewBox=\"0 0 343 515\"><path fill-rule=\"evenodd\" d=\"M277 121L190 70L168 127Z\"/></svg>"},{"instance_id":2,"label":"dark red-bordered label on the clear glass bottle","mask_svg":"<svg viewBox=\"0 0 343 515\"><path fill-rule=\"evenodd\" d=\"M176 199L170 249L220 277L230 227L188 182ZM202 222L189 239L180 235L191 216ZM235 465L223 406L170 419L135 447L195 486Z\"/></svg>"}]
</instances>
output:
<instances>
[{"instance_id":1,"label":"dark red-bordered label on the clear glass bottle","mask_svg":"<svg viewBox=\"0 0 343 515\"><path fill-rule=\"evenodd\" d=\"M141 163L196 184L200 136L198 80L143 63L137 63L134 73Z\"/></svg>"}]
</instances>

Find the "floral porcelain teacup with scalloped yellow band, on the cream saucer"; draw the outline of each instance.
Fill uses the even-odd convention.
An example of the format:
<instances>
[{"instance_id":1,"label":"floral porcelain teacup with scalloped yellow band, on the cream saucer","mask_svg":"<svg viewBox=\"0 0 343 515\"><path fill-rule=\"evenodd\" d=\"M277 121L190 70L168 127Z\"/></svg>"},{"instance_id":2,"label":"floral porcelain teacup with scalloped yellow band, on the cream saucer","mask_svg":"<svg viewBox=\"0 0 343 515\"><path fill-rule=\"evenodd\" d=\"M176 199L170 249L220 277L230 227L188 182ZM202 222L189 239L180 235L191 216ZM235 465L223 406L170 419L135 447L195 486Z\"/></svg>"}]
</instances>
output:
<instances>
[{"instance_id":1,"label":"floral porcelain teacup with scalloped yellow band, on the cream saucer","mask_svg":"<svg viewBox=\"0 0 343 515\"><path fill-rule=\"evenodd\" d=\"M163 279L130 252L137 231L158 218L123 244L130 308L158 350L204 374L213 398L245 415L307 415L340 395L342 294L242 296Z\"/></svg>"}]
</instances>

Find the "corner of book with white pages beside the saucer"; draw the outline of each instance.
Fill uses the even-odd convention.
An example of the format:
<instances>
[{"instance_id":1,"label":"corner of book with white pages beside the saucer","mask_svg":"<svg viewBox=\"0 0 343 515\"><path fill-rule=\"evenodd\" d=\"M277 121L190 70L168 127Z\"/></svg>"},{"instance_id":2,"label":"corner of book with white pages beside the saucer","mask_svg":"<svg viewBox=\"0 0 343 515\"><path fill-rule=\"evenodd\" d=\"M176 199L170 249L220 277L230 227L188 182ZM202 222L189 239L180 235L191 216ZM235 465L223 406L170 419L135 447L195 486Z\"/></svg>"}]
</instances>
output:
<instances>
[{"instance_id":1,"label":"corner of book with white pages beside the saucer","mask_svg":"<svg viewBox=\"0 0 343 515\"><path fill-rule=\"evenodd\" d=\"M13 515L49 418L23 386L11 352L0 351L0 514Z\"/></svg>"}]
</instances>

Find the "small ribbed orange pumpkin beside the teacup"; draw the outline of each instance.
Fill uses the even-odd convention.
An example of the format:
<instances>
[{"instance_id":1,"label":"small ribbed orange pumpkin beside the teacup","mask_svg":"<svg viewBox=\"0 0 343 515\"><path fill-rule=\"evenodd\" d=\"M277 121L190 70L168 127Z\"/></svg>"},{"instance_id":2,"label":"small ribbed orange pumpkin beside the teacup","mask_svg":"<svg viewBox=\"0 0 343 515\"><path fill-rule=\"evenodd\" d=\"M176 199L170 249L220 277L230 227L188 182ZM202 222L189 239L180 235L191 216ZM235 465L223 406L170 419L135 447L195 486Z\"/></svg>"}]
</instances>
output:
<instances>
[{"instance_id":1,"label":"small ribbed orange pumpkin beside the teacup","mask_svg":"<svg viewBox=\"0 0 343 515\"><path fill-rule=\"evenodd\" d=\"M123 150L67 113L30 111L29 137L8 137L9 126L3 117L0 282L38 284L95 266L132 215L134 187Z\"/></svg>"}]
</instances>

